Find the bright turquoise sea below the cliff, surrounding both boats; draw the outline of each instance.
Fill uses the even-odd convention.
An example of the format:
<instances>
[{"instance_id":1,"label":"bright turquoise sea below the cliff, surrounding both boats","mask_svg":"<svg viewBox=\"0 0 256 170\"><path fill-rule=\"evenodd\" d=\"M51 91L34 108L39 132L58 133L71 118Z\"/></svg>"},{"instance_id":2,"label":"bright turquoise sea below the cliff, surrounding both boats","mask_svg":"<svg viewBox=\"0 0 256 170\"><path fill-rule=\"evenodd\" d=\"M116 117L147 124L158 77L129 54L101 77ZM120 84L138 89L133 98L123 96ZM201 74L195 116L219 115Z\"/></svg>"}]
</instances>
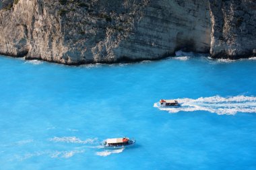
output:
<instances>
[{"instance_id":1,"label":"bright turquoise sea below the cliff, surrounding both boats","mask_svg":"<svg viewBox=\"0 0 256 170\"><path fill-rule=\"evenodd\" d=\"M79 67L1 56L0 169L256 169L255 58L177 55ZM123 136L135 146L99 145Z\"/></svg>"}]
</instances>

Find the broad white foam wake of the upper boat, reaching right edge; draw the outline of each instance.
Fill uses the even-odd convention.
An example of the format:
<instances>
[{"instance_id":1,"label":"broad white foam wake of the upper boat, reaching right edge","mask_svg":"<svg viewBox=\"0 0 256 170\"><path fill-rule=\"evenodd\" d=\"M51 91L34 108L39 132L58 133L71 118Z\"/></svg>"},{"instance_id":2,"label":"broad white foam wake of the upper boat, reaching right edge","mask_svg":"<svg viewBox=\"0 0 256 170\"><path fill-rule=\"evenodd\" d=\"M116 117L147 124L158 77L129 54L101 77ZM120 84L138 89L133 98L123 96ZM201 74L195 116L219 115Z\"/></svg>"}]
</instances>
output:
<instances>
[{"instance_id":1,"label":"broad white foam wake of the upper boat, reaching right edge","mask_svg":"<svg viewBox=\"0 0 256 170\"><path fill-rule=\"evenodd\" d=\"M234 115L237 112L256 113L256 97L237 95L234 97L200 97L198 99L177 99L181 103L179 108L160 108L157 103L154 107L170 113L207 111L216 114Z\"/></svg>"}]
</instances>

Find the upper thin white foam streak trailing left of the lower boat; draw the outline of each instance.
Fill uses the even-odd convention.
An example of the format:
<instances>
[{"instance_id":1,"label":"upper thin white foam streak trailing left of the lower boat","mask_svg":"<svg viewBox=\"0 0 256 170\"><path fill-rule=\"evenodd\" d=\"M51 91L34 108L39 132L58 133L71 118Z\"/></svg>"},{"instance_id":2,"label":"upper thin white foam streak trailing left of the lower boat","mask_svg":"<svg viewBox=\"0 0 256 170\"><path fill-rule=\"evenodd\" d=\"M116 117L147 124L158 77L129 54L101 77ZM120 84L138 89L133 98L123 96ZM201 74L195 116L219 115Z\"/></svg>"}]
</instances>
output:
<instances>
[{"instance_id":1,"label":"upper thin white foam streak trailing left of the lower boat","mask_svg":"<svg viewBox=\"0 0 256 170\"><path fill-rule=\"evenodd\" d=\"M75 136L64 136L64 137L54 137L50 138L53 142L67 142L67 143L80 143L80 144L93 144L98 140L98 138L88 138L86 140L81 140Z\"/></svg>"}]
</instances>

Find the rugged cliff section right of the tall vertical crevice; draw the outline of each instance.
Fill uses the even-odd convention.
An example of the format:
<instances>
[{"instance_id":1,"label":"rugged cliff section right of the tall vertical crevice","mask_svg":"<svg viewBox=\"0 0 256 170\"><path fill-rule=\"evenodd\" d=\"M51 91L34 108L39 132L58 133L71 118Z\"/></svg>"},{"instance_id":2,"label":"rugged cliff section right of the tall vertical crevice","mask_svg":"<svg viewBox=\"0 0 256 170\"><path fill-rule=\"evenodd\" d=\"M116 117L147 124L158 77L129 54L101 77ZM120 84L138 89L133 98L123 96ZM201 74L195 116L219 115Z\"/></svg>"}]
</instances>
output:
<instances>
[{"instance_id":1,"label":"rugged cliff section right of the tall vertical crevice","mask_svg":"<svg viewBox=\"0 0 256 170\"><path fill-rule=\"evenodd\" d=\"M213 58L256 55L256 1L210 0Z\"/></svg>"}]
</instances>

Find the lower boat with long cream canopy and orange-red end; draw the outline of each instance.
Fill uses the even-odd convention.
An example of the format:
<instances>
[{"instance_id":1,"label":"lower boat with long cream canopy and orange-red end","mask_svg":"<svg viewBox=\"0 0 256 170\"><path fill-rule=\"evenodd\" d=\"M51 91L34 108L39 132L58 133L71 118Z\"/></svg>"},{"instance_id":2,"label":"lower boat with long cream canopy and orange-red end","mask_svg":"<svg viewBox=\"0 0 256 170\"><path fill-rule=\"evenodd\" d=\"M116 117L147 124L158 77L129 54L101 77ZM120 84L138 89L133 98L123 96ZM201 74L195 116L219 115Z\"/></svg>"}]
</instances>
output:
<instances>
[{"instance_id":1,"label":"lower boat with long cream canopy and orange-red end","mask_svg":"<svg viewBox=\"0 0 256 170\"><path fill-rule=\"evenodd\" d=\"M125 138L108 138L102 143L104 148L126 148L135 144L135 140Z\"/></svg>"}]
</instances>

